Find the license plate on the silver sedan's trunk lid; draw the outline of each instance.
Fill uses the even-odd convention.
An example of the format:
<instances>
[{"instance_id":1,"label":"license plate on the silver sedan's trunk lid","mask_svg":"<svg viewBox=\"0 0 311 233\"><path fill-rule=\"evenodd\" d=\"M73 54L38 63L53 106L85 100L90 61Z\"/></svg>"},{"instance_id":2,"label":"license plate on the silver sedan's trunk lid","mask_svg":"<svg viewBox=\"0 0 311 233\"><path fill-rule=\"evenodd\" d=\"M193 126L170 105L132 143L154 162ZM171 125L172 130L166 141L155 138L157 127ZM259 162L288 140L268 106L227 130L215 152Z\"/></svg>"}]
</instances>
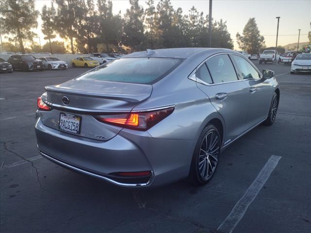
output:
<instances>
[{"instance_id":1,"label":"license plate on the silver sedan's trunk lid","mask_svg":"<svg viewBox=\"0 0 311 233\"><path fill-rule=\"evenodd\" d=\"M58 128L69 133L80 133L81 116L76 116L69 113L60 113Z\"/></svg>"}]
</instances>

